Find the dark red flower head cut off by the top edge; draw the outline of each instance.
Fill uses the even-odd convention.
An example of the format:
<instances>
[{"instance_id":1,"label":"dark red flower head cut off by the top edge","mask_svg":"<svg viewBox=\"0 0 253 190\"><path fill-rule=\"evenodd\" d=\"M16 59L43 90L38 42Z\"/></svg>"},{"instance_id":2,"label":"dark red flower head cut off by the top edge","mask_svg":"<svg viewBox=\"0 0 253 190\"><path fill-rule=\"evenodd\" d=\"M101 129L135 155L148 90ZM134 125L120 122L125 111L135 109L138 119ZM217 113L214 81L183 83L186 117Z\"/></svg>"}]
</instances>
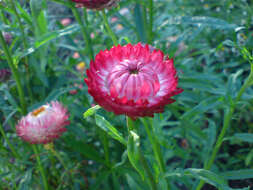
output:
<instances>
[{"instance_id":1,"label":"dark red flower head cut off by the top edge","mask_svg":"<svg viewBox=\"0 0 253 190\"><path fill-rule=\"evenodd\" d=\"M72 0L78 3L78 7L86 7L88 9L104 9L115 6L119 0Z\"/></svg>"}]
</instances>

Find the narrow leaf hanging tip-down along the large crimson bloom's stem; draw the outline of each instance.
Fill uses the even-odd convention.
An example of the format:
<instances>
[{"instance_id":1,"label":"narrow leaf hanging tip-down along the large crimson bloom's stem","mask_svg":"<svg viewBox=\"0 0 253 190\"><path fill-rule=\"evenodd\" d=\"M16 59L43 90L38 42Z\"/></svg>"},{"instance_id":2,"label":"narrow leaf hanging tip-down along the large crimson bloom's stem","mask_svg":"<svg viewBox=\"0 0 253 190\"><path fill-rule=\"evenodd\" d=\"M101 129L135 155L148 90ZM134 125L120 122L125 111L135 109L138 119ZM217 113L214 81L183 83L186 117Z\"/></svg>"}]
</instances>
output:
<instances>
[{"instance_id":1,"label":"narrow leaf hanging tip-down along the large crimson bloom's stem","mask_svg":"<svg viewBox=\"0 0 253 190\"><path fill-rule=\"evenodd\" d=\"M134 131L130 131L127 142L128 158L132 166L140 174L142 179L144 179L145 175L142 165L140 164L139 148L140 148L140 137Z\"/></svg>"}]
</instances>

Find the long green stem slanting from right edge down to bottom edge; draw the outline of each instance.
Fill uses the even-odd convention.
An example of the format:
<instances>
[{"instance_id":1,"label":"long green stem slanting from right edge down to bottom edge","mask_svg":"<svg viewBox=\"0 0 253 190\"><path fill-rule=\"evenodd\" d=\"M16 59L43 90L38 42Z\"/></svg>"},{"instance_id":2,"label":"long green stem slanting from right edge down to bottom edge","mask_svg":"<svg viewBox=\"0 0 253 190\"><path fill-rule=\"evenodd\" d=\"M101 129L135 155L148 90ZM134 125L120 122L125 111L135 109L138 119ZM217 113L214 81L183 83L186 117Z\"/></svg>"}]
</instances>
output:
<instances>
[{"instance_id":1,"label":"long green stem slanting from right edge down to bottom edge","mask_svg":"<svg viewBox=\"0 0 253 190\"><path fill-rule=\"evenodd\" d=\"M230 105L229 109L227 110L226 114L224 115L223 127L222 127L221 132L218 136L218 139L217 139L216 144L214 146L211 157L208 159L207 163L204 165L205 170L209 170L212 167L212 165L215 161L215 157L222 145L223 138L224 138L226 131L229 127L231 118L232 118L234 110L235 110L235 106L238 103L238 101L241 99L241 96L245 92L246 88L249 87L250 85L252 85L252 82L253 82L253 63L251 63L251 70L250 70L250 74L249 74L248 78L246 79L245 83L243 84L243 86L239 90L239 92L235 98L235 101ZM205 184L205 182L203 180L201 180L199 182L196 190L200 190L204 184Z\"/></svg>"}]
</instances>

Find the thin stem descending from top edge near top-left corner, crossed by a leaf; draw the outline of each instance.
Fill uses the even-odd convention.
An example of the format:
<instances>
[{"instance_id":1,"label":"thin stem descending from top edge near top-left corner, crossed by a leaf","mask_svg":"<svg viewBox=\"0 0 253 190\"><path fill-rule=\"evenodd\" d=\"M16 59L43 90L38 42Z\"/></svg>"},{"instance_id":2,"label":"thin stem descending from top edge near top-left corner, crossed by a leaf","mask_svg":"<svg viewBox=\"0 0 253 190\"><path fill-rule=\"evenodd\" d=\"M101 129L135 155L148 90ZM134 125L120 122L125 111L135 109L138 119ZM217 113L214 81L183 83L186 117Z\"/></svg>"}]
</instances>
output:
<instances>
[{"instance_id":1,"label":"thin stem descending from top edge near top-left corner, crossed by a leaf","mask_svg":"<svg viewBox=\"0 0 253 190\"><path fill-rule=\"evenodd\" d=\"M14 14L15 14L15 16L17 18L17 21L18 21L18 25L19 25L19 28L20 28L20 31L21 31L24 48L27 50L28 49L28 43L26 41L24 26L21 22L21 18L19 16L18 12L17 12L14 0L11 0L10 2L11 2L12 10L14 11ZM26 80L27 80L28 94L30 96L31 101L33 101L32 89L30 87L30 82L29 82L29 80L30 80L30 70L29 70L29 64L28 64L28 57L27 56L25 57L25 66L26 66L26 70L27 70Z\"/></svg>"}]
</instances>

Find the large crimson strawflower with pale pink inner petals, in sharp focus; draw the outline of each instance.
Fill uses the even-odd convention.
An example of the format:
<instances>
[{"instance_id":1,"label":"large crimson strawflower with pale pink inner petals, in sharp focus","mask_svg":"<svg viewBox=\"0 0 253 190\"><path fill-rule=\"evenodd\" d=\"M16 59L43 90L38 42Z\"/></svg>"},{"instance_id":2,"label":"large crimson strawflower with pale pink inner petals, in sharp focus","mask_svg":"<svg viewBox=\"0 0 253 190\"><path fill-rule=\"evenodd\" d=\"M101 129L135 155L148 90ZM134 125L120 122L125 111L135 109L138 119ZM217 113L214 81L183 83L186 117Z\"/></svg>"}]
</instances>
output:
<instances>
[{"instance_id":1,"label":"large crimson strawflower with pale pink inner petals, in sharp focus","mask_svg":"<svg viewBox=\"0 0 253 190\"><path fill-rule=\"evenodd\" d=\"M100 51L87 77L88 92L100 106L132 119L163 112L183 91L177 88L173 59L141 43Z\"/></svg>"}]
</instances>

